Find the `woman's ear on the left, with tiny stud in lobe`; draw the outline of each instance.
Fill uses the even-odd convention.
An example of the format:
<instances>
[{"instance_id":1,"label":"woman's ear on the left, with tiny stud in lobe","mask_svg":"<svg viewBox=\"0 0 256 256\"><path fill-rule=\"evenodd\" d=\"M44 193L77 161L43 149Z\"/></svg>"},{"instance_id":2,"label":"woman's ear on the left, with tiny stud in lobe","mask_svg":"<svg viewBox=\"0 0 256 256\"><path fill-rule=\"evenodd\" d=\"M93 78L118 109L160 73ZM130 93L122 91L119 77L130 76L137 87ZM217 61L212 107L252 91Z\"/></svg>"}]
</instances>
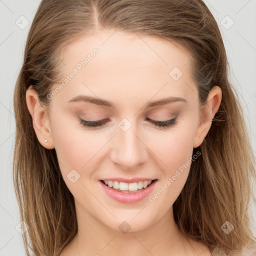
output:
<instances>
[{"instance_id":1,"label":"woman's ear on the left, with tiny stud in lobe","mask_svg":"<svg viewBox=\"0 0 256 256\"><path fill-rule=\"evenodd\" d=\"M40 105L38 94L32 85L26 90L26 105L31 114L38 141L47 149L54 148L47 109ZM44 141L45 139L47 139L47 142Z\"/></svg>"}]
</instances>

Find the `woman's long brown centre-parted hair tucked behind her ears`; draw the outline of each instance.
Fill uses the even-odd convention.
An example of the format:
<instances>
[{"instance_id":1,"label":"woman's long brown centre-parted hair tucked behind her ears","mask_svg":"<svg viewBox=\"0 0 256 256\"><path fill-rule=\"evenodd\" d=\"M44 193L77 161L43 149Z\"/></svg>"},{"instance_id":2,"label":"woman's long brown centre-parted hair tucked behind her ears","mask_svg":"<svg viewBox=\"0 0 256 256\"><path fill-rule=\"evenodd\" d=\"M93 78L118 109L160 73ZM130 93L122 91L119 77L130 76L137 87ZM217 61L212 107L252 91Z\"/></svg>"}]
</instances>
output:
<instances>
[{"instance_id":1,"label":"woman's long brown centre-parted hair tucked behind her ears","mask_svg":"<svg viewBox=\"0 0 256 256\"><path fill-rule=\"evenodd\" d=\"M55 149L39 142L25 100L32 85L39 100L60 77L58 54L64 44L89 31L118 29L153 35L183 45L192 55L200 104L209 90L222 90L219 110L173 204L180 230L211 250L241 251L255 237L249 229L251 177L255 160L242 108L228 81L228 63L218 25L202 0L42 0L26 41L14 91L16 137L13 181L27 255L59 255L77 232L73 196L60 173ZM254 197L253 197L254 198ZM229 221L233 230L221 226Z\"/></svg>"}]
</instances>

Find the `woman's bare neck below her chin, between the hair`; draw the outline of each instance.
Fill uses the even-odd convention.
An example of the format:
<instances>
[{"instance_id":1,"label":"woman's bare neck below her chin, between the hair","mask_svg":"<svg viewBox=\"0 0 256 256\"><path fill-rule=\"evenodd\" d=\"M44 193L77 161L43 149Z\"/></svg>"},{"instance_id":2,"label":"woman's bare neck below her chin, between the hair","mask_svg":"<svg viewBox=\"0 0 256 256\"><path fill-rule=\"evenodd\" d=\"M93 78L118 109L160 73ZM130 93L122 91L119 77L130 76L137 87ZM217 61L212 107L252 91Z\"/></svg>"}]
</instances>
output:
<instances>
[{"instance_id":1,"label":"woman's bare neck below her chin, between the hair","mask_svg":"<svg viewBox=\"0 0 256 256\"><path fill-rule=\"evenodd\" d=\"M194 255L191 254L188 240L174 221L172 207L147 228L126 233L99 222L77 202L75 208L78 231L61 256Z\"/></svg>"}]
</instances>

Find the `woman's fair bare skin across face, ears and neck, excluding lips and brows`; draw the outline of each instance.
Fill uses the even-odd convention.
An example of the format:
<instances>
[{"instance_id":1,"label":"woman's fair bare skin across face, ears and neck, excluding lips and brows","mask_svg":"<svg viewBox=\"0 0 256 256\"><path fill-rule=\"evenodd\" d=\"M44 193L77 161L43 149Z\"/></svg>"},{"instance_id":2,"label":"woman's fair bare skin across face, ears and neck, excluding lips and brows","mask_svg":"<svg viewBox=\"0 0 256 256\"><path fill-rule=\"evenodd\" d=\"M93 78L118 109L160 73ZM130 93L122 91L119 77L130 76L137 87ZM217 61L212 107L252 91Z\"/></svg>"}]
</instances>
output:
<instances>
[{"instance_id":1,"label":"woman's fair bare skin across face, ears and neck, excluding lips and brows","mask_svg":"<svg viewBox=\"0 0 256 256\"><path fill-rule=\"evenodd\" d=\"M94 48L99 52L50 99L50 109L38 103L31 86L26 92L38 141L55 148L75 200L78 232L60 255L210 255L200 242L190 240L192 247L173 219L172 204L189 167L154 202L148 196L136 203L118 202L105 193L99 179L157 178L150 195L154 194L202 143L219 108L221 89L214 86L200 107L191 56L184 48L157 37L142 40L136 34L113 31L96 31L65 46L59 56L63 78ZM175 66L183 73L177 80L169 75ZM105 99L115 107L68 102L80 94ZM146 107L170 96L186 102ZM146 117L159 121L176 117L176 123L162 128ZM108 118L108 122L93 129L82 126L78 118ZM118 126L122 118L131 123L126 131ZM75 182L67 177L72 169L80 175ZM123 221L131 227L127 233L118 228Z\"/></svg>"}]
</instances>

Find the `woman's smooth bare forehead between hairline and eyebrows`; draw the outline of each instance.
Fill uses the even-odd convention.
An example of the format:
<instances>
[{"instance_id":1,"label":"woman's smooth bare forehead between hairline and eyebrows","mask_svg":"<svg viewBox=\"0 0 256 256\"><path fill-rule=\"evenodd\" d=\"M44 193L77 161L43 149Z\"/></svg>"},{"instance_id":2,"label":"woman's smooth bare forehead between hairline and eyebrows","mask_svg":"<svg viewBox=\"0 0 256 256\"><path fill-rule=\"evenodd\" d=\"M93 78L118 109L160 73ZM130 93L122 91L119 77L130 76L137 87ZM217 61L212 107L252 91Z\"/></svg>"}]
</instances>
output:
<instances>
[{"instance_id":1,"label":"woman's smooth bare forehead between hairline and eyebrows","mask_svg":"<svg viewBox=\"0 0 256 256\"><path fill-rule=\"evenodd\" d=\"M97 53L92 54L95 49ZM118 95L120 103L127 97L146 102L166 93L196 94L191 55L181 45L156 36L101 30L66 45L60 58L63 80L76 70L61 90L66 101L81 92L114 102Z\"/></svg>"}]
</instances>

